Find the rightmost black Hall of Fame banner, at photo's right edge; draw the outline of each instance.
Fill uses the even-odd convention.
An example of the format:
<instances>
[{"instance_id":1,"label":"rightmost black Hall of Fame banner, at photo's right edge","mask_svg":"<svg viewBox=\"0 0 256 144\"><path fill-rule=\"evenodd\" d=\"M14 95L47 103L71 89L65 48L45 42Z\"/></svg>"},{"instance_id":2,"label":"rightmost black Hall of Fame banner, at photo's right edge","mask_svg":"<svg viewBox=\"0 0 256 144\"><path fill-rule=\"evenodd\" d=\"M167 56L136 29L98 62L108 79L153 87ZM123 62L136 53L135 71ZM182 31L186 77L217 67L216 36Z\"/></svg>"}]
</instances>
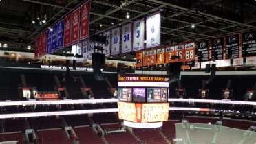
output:
<instances>
[{"instance_id":1,"label":"rightmost black Hall of Fame banner, at photo's right edge","mask_svg":"<svg viewBox=\"0 0 256 144\"><path fill-rule=\"evenodd\" d=\"M256 56L256 32L242 33L242 57Z\"/></svg>"}]
</instances>

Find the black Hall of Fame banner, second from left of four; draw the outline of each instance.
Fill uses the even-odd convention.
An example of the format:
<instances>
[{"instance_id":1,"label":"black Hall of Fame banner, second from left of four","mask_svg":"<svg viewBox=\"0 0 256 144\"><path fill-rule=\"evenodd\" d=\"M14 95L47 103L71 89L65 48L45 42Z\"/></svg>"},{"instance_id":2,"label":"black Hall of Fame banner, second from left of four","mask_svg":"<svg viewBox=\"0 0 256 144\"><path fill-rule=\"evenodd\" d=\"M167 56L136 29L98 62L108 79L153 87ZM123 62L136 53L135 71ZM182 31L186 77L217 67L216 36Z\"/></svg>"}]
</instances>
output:
<instances>
[{"instance_id":1,"label":"black Hall of Fame banner, second from left of four","mask_svg":"<svg viewBox=\"0 0 256 144\"><path fill-rule=\"evenodd\" d=\"M211 39L211 58L213 60L223 60L224 37Z\"/></svg>"}]
</instances>

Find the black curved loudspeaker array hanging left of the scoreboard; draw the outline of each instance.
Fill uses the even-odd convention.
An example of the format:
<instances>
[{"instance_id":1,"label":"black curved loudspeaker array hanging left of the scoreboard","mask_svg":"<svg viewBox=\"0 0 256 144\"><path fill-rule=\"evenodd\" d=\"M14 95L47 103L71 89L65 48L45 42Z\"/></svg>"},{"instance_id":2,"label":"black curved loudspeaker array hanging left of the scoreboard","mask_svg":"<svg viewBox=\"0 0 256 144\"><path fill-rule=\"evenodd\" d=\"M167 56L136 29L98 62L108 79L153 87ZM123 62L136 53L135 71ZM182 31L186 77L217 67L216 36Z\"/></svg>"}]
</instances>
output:
<instances>
[{"instance_id":1,"label":"black curved loudspeaker array hanging left of the scoreboard","mask_svg":"<svg viewBox=\"0 0 256 144\"><path fill-rule=\"evenodd\" d=\"M101 65L100 62L102 62L101 58L102 56L100 53L92 53L92 68L94 69L93 70L94 77L96 80L103 81L105 79L100 70L100 65Z\"/></svg>"}]
</instances>

